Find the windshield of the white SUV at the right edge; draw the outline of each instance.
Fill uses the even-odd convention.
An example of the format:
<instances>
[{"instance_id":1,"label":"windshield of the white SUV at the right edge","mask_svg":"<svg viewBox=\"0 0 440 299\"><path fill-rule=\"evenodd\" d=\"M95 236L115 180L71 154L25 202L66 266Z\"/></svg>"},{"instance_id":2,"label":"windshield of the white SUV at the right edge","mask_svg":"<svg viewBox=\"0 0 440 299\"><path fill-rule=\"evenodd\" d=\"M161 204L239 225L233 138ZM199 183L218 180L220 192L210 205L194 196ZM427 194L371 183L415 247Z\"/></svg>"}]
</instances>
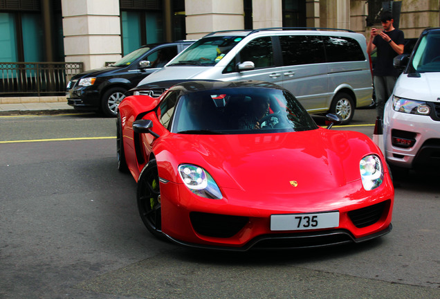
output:
<instances>
[{"instance_id":1,"label":"windshield of the white SUV at the right edge","mask_svg":"<svg viewBox=\"0 0 440 299\"><path fill-rule=\"evenodd\" d=\"M440 71L440 32L430 31L421 37L410 64L410 73Z\"/></svg>"}]
</instances>

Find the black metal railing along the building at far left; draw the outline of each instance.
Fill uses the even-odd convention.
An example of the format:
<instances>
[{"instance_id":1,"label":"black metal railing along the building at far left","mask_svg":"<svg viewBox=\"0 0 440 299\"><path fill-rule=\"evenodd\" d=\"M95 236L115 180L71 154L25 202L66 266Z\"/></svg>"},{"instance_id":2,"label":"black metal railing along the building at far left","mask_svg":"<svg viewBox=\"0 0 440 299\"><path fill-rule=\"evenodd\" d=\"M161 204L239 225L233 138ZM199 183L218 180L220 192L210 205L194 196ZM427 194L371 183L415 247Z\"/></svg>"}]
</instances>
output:
<instances>
[{"instance_id":1,"label":"black metal railing along the building at far left","mask_svg":"<svg viewBox=\"0 0 440 299\"><path fill-rule=\"evenodd\" d=\"M0 96L64 96L82 62L0 62Z\"/></svg>"}]
</instances>

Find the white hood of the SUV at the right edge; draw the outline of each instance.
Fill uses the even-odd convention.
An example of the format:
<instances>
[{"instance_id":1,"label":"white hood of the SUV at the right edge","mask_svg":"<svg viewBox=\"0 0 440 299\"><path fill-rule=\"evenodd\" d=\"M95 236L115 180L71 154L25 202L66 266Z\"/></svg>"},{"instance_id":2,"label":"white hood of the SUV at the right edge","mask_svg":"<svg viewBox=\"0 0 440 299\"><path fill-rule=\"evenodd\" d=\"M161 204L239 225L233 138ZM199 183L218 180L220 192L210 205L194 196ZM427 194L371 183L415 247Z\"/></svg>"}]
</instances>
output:
<instances>
[{"instance_id":1,"label":"white hood of the SUV at the right edge","mask_svg":"<svg viewBox=\"0 0 440 299\"><path fill-rule=\"evenodd\" d=\"M438 102L440 98L440 73L402 74L396 82L394 95L411 100Z\"/></svg>"}]
</instances>

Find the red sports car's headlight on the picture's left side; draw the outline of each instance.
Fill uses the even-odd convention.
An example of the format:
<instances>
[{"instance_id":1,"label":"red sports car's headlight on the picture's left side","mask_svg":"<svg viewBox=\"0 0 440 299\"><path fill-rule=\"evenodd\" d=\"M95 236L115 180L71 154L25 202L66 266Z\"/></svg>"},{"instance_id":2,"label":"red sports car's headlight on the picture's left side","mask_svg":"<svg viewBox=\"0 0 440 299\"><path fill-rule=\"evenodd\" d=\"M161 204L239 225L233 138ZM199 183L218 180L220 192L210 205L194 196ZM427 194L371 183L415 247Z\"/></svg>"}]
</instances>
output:
<instances>
[{"instance_id":1,"label":"red sports car's headlight on the picture's left side","mask_svg":"<svg viewBox=\"0 0 440 299\"><path fill-rule=\"evenodd\" d=\"M221 199L222 195L212 176L202 167L181 164L178 166L178 173L181 175L183 183L194 194L209 199Z\"/></svg>"}]
</instances>

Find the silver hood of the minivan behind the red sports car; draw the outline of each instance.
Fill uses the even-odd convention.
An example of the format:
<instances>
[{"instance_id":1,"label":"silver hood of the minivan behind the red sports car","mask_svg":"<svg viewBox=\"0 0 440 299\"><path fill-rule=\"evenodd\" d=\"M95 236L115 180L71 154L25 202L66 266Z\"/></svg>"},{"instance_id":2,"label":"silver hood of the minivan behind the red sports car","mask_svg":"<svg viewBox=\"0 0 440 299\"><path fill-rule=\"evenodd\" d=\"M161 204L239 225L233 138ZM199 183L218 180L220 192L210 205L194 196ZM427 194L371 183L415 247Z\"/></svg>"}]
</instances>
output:
<instances>
[{"instance_id":1,"label":"silver hood of the minivan behind the red sports car","mask_svg":"<svg viewBox=\"0 0 440 299\"><path fill-rule=\"evenodd\" d=\"M164 80L205 79L199 75L215 66L165 66L139 82L138 86Z\"/></svg>"}]
</instances>

